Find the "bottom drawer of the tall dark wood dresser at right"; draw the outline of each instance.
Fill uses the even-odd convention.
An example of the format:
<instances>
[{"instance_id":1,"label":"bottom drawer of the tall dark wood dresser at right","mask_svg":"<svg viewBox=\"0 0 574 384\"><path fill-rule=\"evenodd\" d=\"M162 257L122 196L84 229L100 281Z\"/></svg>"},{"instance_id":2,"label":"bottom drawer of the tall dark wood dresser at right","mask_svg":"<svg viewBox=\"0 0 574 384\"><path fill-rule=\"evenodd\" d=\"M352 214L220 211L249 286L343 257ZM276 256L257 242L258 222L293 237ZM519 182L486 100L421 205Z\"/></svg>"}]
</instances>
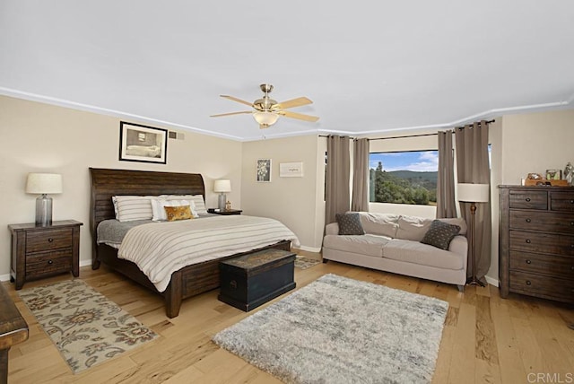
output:
<instances>
[{"instance_id":1,"label":"bottom drawer of the tall dark wood dresser at right","mask_svg":"<svg viewBox=\"0 0 574 384\"><path fill-rule=\"evenodd\" d=\"M510 271L511 292L557 301L574 302L574 281Z\"/></svg>"}]
</instances>

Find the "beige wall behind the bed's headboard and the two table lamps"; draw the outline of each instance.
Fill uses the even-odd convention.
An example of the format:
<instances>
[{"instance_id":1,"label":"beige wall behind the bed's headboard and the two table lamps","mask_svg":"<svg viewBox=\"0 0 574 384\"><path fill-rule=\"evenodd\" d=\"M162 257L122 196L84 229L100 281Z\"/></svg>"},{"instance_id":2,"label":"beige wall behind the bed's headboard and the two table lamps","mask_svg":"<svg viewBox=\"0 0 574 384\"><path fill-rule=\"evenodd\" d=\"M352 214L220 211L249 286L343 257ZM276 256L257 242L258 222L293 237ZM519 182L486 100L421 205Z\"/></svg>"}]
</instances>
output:
<instances>
[{"instance_id":1,"label":"beige wall behind the bed's headboard and the two table lamps","mask_svg":"<svg viewBox=\"0 0 574 384\"><path fill-rule=\"evenodd\" d=\"M132 121L137 123L137 121ZM242 144L185 132L170 139L167 165L118 161L119 119L0 96L0 279L10 271L9 223L33 223L35 198L24 193L28 172L55 172L63 177L64 193L54 199L54 220L83 222L80 260L91 260L89 231L89 167L128 170L199 172L204 176L207 206L217 205L213 179L231 180L228 199L240 205ZM233 187L236 188L233 188Z\"/></svg>"}]
</instances>

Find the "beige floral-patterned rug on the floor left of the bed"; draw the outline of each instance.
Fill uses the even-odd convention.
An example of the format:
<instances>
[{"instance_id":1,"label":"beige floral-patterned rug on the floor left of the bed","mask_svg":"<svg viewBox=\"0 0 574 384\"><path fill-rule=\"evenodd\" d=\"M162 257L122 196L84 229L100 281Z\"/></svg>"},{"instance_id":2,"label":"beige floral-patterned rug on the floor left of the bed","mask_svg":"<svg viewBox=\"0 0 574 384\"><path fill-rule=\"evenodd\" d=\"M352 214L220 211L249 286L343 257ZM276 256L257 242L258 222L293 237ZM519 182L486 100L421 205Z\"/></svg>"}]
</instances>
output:
<instances>
[{"instance_id":1,"label":"beige floral-patterned rug on the floor left of the bed","mask_svg":"<svg viewBox=\"0 0 574 384\"><path fill-rule=\"evenodd\" d=\"M74 373L157 337L79 279L24 289L19 294Z\"/></svg>"}]
</instances>

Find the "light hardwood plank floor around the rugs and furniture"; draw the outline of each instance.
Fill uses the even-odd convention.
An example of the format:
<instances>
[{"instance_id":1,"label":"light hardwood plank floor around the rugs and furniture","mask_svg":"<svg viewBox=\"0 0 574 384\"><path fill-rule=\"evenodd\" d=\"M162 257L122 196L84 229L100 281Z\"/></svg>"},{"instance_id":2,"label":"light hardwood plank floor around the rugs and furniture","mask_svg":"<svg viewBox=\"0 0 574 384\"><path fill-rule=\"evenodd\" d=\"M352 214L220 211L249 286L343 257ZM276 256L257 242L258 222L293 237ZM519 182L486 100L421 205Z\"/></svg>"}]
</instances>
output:
<instances>
[{"instance_id":1,"label":"light hardwood plank floor around the rugs and furniture","mask_svg":"<svg viewBox=\"0 0 574 384\"><path fill-rule=\"evenodd\" d=\"M318 257L309 253L306 256ZM574 330L567 327L574 323L574 310L569 306L518 295L500 299L494 286L466 286L465 292L460 293L453 285L335 262L306 270L296 268L297 289L327 273L448 301L433 383L574 382ZM26 283L24 288L69 278L71 275L61 275ZM168 319L158 295L104 267L97 271L83 267L80 278L161 337L74 375L22 303L13 284L4 282L30 327L30 338L10 350L10 383L280 382L211 342L215 333L268 304L245 313L217 301L218 292L212 291L184 301L178 318Z\"/></svg>"}]
</instances>

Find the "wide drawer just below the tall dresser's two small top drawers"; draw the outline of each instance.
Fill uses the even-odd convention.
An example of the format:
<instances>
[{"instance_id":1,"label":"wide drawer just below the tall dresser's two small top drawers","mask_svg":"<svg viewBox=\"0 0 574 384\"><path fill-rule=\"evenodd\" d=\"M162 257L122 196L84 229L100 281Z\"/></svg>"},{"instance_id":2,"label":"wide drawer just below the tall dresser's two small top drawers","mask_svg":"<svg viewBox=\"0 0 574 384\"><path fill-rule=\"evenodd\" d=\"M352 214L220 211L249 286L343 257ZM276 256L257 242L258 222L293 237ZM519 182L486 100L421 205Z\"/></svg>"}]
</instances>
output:
<instances>
[{"instance_id":1,"label":"wide drawer just below the tall dresser's two small top drawers","mask_svg":"<svg viewBox=\"0 0 574 384\"><path fill-rule=\"evenodd\" d=\"M561 232L574 235L574 214L511 210L509 226L513 230Z\"/></svg>"}]
</instances>

